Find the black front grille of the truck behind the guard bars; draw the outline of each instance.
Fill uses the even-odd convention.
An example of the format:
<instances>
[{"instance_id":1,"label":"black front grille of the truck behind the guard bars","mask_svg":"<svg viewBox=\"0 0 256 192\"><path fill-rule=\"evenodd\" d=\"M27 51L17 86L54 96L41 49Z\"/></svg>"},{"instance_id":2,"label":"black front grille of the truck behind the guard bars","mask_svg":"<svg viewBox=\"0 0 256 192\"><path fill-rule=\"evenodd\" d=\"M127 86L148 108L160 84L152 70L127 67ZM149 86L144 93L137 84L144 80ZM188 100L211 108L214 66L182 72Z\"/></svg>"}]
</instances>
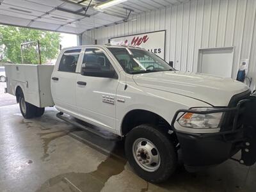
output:
<instances>
[{"instance_id":1,"label":"black front grille of the truck behind the guard bars","mask_svg":"<svg viewBox=\"0 0 256 192\"><path fill-rule=\"evenodd\" d=\"M250 97L250 94L251 94L251 91L248 90L246 92L238 93L238 94L234 95L230 99L230 102L228 104L228 108L236 108L238 102L242 99L248 99L248 97ZM237 128L241 127L241 125L243 124L244 110L245 110L245 106L242 105L240 110L239 110L239 114L237 116L237 124L236 124ZM232 129L232 126L234 124L235 116L236 116L236 111L226 112L223 115L223 122L221 124L221 131L230 131Z\"/></svg>"}]
</instances>

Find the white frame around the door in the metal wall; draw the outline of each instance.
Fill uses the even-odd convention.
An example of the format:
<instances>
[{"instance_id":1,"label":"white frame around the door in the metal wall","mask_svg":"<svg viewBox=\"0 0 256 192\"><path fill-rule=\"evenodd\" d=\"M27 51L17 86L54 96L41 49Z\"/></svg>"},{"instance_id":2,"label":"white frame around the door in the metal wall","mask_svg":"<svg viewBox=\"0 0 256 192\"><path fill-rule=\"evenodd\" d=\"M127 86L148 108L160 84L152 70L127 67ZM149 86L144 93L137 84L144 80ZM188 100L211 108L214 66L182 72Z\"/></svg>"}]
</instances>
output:
<instances>
[{"instance_id":1,"label":"white frame around the door in the metal wall","mask_svg":"<svg viewBox=\"0 0 256 192\"><path fill-rule=\"evenodd\" d=\"M204 51L221 51L221 50L231 50L232 51L232 68L231 68L231 77L233 76L233 69L234 69L234 52L235 47L209 47L209 48L200 48L198 49L198 61L197 61L197 67L196 72L202 72L202 57Z\"/></svg>"}]
</instances>

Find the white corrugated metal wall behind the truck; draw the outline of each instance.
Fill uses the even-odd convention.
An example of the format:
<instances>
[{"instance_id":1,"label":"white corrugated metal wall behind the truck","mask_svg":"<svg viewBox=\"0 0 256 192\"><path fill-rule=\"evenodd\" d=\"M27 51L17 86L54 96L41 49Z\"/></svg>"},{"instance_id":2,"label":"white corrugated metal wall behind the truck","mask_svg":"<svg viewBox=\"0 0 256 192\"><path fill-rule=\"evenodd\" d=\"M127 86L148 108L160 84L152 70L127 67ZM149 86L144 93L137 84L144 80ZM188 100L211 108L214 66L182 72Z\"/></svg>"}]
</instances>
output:
<instances>
[{"instance_id":1,"label":"white corrugated metal wall behind the truck","mask_svg":"<svg viewBox=\"0 0 256 192\"><path fill-rule=\"evenodd\" d=\"M108 43L108 38L166 29L166 61L196 72L198 49L234 46L232 77L239 62L249 59L248 76L256 77L256 0L191 0L137 15L127 23L86 31L83 44Z\"/></svg>"}]
</instances>

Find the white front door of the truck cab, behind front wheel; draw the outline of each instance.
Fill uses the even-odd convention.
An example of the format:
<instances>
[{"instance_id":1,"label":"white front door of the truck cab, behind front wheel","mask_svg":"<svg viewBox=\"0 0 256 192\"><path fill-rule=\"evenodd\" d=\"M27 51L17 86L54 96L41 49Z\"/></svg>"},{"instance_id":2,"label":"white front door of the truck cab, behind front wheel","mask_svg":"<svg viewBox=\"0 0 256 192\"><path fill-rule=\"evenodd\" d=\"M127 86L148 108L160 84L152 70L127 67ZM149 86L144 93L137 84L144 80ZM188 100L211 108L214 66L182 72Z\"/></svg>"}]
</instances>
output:
<instances>
[{"instance_id":1,"label":"white front door of the truck cab, behind front wheel","mask_svg":"<svg viewBox=\"0 0 256 192\"><path fill-rule=\"evenodd\" d=\"M114 131L116 122L116 88L118 74L111 64L111 58L100 48L86 48L82 69L86 74L77 75L77 112L84 121ZM92 70L92 73L90 73ZM104 74L113 72L115 76Z\"/></svg>"}]
</instances>

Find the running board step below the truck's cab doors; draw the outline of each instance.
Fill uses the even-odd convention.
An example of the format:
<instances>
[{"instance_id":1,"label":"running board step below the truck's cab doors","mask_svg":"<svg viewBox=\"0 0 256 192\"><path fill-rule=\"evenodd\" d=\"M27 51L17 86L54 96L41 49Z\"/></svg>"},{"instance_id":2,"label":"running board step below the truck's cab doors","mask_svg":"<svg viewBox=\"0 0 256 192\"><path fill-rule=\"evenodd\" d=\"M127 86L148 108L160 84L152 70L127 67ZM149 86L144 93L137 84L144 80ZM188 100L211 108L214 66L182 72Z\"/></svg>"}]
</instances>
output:
<instances>
[{"instance_id":1,"label":"running board step below the truck's cab doors","mask_svg":"<svg viewBox=\"0 0 256 192\"><path fill-rule=\"evenodd\" d=\"M116 136L115 134L108 131L108 135L104 134L103 132L98 131L97 129L93 129L91 127L88 127L86 125L80 124L79 122L76 122L76 120L72 118L68 118L68 116L63 116L63 113L57 113L56 116L60 118L61 120L67 122L68 124L74 125L75 127L79 127L80 129L83 129L84 131L92 132L93 134L100 136L106 140L122 140L120 136ZM105 131L104 131L105 132Z\"/></svg>"}]
</instances>

